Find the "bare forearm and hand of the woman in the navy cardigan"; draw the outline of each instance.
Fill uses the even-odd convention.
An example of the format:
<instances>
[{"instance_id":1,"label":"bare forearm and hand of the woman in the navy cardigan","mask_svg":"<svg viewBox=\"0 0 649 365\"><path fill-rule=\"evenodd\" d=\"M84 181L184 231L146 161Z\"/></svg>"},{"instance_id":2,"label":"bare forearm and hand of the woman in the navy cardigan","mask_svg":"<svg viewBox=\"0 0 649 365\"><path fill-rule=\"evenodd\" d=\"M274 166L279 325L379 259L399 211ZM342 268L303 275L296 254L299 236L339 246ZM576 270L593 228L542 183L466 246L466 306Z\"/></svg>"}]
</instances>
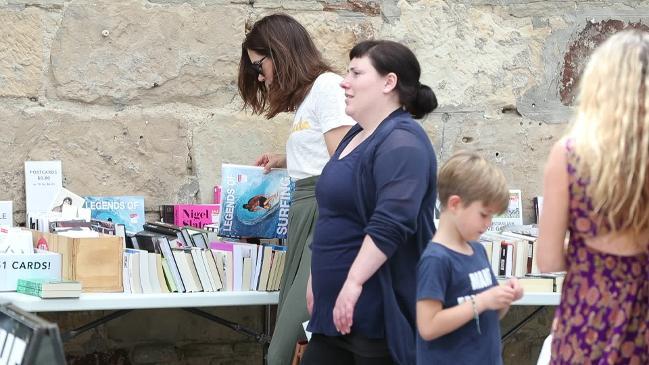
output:
<instances>
[{"instance_id":1,"label":"bare forearm and hand of the woman in the navy cardigan","mask_svg":"<svg viewBox=\"0 0 649 365\"><path fill-rule=\"evenodd\" d=\"M354 307L363 291L363 284L385 263L388 257L366 235L361 249L352 263L333 310L334 325L343 335L351 331Z\"/></svg>"}]
</instances>

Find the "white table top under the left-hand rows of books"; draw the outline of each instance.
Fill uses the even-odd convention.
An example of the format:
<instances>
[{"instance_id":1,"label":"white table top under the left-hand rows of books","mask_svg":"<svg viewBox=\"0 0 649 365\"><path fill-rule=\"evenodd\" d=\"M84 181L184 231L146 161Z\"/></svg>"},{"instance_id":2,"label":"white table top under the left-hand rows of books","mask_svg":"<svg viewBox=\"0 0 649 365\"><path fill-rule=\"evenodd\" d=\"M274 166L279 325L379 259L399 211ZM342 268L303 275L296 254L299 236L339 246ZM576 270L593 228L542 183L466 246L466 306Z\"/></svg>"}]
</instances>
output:
<instances>
[{"instance_id":1,"label":"white table top under the left-hand rows of books","mask_svg":"<svg viewBox=\"0 0 649 365\"><path fill-rule=\"evenodd\" d=\"M195 308L277 304L279 292L228 291L198 293L83 293L79 298L41 299L0 292L0 303L11 302L28 312Z\"/></svg>"}]
</instances>

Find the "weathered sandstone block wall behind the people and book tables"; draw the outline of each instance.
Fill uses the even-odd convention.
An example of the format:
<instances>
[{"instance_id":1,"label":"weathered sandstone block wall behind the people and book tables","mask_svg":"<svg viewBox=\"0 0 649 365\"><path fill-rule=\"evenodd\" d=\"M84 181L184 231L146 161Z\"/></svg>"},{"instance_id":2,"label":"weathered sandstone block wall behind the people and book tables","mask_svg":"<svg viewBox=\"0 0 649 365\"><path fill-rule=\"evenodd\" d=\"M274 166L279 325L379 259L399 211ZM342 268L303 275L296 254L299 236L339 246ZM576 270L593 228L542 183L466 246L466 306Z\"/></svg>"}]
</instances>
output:
<instances>
[{"instance_id":1,"label":"weathered sandstone block wall behind the people and book tables","mask_svg":"<svg viewBox=\"0 0 649 365\"><path fill-rule=\"evenodd\" d=\"M279 151L290 116L241 110L245 29L287 12L345 69L367 38L410 46L440 108L423 121L440 161L479 151L523 191L526 221L543 162L570 118L579 72L602 39L646 28L649 1L0 0L0 200L24 224L23 162L60 159L80 195L145 196L149 219L173 202L209 202L222 162ZM505 329L531 308L516 309ZM257 329L260 308L219 309ZM64 329L99 313L51 314ZM505 344L532 364L551 310ZM72 364L259 363L262 348L177 311L130 313L70 342ZM256 362L258 361L258 362Z\"/></svg>"}]
</instances>

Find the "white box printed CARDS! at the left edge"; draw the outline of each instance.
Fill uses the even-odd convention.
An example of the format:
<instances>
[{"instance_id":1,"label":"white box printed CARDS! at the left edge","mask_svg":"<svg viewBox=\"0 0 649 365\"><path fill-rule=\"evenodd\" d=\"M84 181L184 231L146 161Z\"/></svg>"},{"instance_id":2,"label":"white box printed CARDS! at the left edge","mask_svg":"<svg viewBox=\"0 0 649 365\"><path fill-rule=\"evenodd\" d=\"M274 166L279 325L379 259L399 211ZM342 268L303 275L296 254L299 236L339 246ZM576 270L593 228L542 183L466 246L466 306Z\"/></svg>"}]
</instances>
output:
<instances>
[{"instance_id":1,"label":"white box printed CARDS! at the left edge","mask_svg":"<svg viewBox=\"0 0 649 365\"><path fill-rule=\"evenodd\" d=\"M18 279L61 279L61 255L36 253L0 254L0 291L15 291Z\"/></svg>"}]
</instances>

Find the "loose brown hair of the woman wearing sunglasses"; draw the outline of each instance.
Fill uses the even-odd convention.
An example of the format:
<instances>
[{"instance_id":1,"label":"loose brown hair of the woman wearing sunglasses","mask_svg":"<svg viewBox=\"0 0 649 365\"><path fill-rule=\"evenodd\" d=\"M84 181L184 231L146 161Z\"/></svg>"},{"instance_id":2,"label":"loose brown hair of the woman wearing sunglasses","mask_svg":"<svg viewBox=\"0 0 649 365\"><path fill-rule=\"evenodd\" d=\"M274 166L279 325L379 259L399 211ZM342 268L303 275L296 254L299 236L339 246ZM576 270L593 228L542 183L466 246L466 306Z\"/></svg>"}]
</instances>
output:
<instances>
[{"instance_id":1,"label":"loose brown hair of the woman wearing sunglasses","mask_svg":"<svg viewBox=\"0 0 649 365\"><path fill-rule=\"evenodd\" d=\"M247 50L273 62L272 90L257 79ZM311 36L297 20L286 14L273 14L255 22L241 44L239 94L243 107L270 119L281 112L294 111L304 100L315 79L331 71L315 47ZM272 91L272 92L269 92Z\"/></svg>"}]
</instances>

